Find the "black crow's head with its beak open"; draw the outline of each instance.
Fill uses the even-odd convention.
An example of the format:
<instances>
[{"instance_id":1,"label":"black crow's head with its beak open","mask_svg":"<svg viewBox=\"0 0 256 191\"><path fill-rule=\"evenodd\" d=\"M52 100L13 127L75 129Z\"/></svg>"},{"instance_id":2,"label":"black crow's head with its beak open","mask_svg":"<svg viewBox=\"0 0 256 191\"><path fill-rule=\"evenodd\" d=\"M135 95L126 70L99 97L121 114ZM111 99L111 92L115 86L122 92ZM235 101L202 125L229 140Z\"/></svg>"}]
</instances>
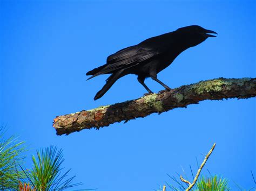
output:
<instances>
[{"instance_id":1,"label":"black crow's head with its beak open","mask_svg":"<svg viewBox=\"0 0 256 191\"><path fill-rule=\"evenodd\" d=\"M217 34L217 32L204 29L198 25L191 25L179 28L177 32L183 34L184 40L190 43L191 46L196 46L203 41L205 41L208 37L216 37L213 34Z\"/></svg>"}]
</instances>

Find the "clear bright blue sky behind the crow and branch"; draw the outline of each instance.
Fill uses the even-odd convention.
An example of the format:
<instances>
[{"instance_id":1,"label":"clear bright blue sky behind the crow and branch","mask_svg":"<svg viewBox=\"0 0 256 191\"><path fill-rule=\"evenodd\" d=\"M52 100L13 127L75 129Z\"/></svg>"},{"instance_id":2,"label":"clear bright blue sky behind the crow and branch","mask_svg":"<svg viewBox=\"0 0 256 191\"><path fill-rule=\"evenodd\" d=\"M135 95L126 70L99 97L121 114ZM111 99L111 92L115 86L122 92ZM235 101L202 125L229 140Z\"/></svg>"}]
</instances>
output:
<instances>
[{"instance_id":1,"label":"clear bright blue sky behind the crow and branch","mask_svg":"<svg viewBox=\"0 0 256 191\"><path fill-rule=\"evenodd\" d=\"M145 89L127 75L93 101L107 76L86 81L121 48L197 24L219 33L187 49L158 77L171 88L217 77L255 77L255 1L10 1L0 5L0 123L37 148L63 148L66 169L82 188L152 190L166 175L212 174L254 186L255 98L204 101L107 128L56 136L55 116L138 98ZM146 83L155 92L156 82ZM203 174L207 174L206 168Z\"/></svg>"}]
</instances>

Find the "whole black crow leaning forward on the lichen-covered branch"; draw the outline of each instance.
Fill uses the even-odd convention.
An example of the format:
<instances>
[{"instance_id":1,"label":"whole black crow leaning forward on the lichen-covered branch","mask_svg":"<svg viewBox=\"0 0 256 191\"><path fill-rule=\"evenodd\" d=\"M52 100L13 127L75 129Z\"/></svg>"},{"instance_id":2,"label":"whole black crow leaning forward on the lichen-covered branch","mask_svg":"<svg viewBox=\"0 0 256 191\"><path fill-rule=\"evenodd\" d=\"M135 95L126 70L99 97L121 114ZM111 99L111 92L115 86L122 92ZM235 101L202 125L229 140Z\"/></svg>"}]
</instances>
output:
<instances>
[{"instance_id":1,"label":"whole black crow leaning forward on the lichen-covered branch","mask_svg":"<svg viewBox=\"0 0 256 191\"><path fill-rule=\"evenodd\" d=\"M217 34L198 25L185 26L176 31L146 39L142 43L121 49L108 56L105 65L86 73L86 75L92 75L89 79L100 74L111 74L94 100L102 97L114 82L127 74L138 75L139 83L150 94L152 91L144 83L146 77L151 77L165 89L171 90L157 79L157 73L171 65L173 60L185 49L202 43L208 37L216 37L208 33Z\"/></svg>"}]
</instances>

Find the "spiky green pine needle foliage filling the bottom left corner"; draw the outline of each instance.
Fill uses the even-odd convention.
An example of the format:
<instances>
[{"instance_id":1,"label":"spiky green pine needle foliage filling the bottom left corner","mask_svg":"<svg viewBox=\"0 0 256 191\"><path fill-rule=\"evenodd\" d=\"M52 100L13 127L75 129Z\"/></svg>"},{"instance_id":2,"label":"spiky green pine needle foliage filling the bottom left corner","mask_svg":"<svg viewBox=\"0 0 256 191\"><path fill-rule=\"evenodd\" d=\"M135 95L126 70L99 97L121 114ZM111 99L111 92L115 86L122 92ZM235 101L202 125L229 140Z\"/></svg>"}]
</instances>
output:
<instances>
[{"instance_id":1,"label":"spiky green pine needle foliage filling the bottom left corner","mask_svg":"<svg viewBox=\"0 0 256 191\"><path fill-rule=\"evenodd\" d=\"M37 150L36 157L32 156L33 168L24 170L24 142L19 142L15 136L5 138L5 132L5 127L0 125L0 190L18 190L24 184L43 191L81 185L72 183L75 176L68 178L70 169L63 173L63 154L57 147Z\"/></svg>"}]
</instances>

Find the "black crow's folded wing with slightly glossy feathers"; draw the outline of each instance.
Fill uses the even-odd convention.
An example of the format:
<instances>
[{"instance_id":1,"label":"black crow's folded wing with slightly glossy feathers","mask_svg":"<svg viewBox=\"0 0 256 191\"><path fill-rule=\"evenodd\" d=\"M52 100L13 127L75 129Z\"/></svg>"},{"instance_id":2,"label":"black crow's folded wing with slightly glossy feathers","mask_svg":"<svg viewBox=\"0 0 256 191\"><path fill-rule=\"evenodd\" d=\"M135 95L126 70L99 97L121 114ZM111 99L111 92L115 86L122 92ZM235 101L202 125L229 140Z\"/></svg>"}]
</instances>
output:
<instances>
[{"instance_id":1,"label":"black crow's folded wing with slightly glossy feathers","mask_svg":"<svg viewBox=\"0 0 256 191\"><path fill-rule=\"evenodd\" d=\"M153 56L158 55L157 49L130 46L120 51L111 54L107 57L106 65L96 68L97 72L89 79L100 74L114 73L120 69L127 69L142 63L143 61L151 59Z\"/></svg>"}]
</instances>

